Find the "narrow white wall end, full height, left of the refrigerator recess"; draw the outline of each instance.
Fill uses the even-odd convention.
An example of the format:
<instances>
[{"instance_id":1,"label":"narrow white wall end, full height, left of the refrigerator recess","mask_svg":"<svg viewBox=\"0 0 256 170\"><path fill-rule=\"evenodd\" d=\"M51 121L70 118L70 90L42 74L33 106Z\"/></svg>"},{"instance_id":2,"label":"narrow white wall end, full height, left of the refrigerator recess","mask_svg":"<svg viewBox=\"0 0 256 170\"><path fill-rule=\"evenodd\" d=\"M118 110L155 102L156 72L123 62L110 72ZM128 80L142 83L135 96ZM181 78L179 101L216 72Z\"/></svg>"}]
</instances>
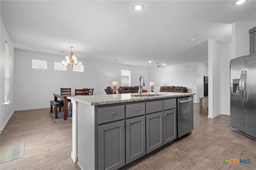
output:
<instances>
[{"instance_id":1,"label":"narrow white wall end, full height, left of the refrigerator recess","mask_svg":"<svg viewBox=\"0 0 256 170\"><path fill-rule=\"evenodd\" d=\"M214 39L208 40L208 117L214 118L221 113L220 98L220 44Z\"/></svg>"}]
</instances>

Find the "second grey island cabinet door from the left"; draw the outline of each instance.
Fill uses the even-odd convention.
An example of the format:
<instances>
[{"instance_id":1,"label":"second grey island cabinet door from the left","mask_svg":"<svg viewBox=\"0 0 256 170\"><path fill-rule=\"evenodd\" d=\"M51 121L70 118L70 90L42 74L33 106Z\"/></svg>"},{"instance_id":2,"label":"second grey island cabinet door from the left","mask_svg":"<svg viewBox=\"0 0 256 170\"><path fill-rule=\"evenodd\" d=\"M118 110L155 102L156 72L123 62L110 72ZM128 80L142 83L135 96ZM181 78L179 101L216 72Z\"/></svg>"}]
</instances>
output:
<instances>
[{"instance_id":1,"label":"second grey island cabinet door from the left","mask_svg":"<svg viewBox=\"0 0 256 170\"><path fill-rule=\"evenodd\" d=\"M126 120L126 164L146 154L145 116Z\"/></svg>"}]
</instances>

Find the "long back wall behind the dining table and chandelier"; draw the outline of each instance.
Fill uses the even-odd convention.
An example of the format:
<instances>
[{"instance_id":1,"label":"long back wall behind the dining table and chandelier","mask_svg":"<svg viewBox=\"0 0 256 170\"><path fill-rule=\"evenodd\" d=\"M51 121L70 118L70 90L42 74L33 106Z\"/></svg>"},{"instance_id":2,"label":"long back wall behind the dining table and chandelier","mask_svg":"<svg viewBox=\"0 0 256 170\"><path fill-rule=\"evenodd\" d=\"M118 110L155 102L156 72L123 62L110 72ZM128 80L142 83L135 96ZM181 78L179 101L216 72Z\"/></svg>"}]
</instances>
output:
<instances>
[{"instance_id":1,"label":"long back wall behind the dining table and chandelier","mask_svg":"<svg viewBox=\"0 0 256 170\"><path fill-rule=\"evenodd\" d=\"M75 52L74 52L75 53ZM131 86L138 86L139 77L144 76L146 87L149 86L149 69L146 67L107 63L78 58L84 64L84 72L73 72L72 66L67 71L54 70L54 61L62 61L65 56L15 50L14 57L14 92L15 110L50 107L53 93L60 93L60 88L94 88L94 94L106 94L104 89L112 86L112 81L121 84L121 70L131 70ZM31 68L31 60L47 61L47 70Z\"/></svg>"}]
</instances>

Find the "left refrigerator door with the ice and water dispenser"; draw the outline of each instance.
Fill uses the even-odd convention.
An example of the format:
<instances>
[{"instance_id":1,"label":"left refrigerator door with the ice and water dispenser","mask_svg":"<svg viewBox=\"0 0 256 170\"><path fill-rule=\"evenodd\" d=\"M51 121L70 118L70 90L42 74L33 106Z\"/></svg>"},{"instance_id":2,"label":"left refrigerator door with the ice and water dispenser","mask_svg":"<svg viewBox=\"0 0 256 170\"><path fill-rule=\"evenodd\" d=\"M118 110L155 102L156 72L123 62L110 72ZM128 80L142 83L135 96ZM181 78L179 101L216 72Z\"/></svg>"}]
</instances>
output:
<instances>
[{"instance_id":1,"label":"left refrigerator door with the ice and water dispenser","mask_svg":"<svg viewBox=\"0 0 256 170\"><path fill-rule=\"evenodd\" d=\"M230 121L231 127L244 132L244 99L242 80L244 56L230 61Z\"/></svg>"}]
</instances>

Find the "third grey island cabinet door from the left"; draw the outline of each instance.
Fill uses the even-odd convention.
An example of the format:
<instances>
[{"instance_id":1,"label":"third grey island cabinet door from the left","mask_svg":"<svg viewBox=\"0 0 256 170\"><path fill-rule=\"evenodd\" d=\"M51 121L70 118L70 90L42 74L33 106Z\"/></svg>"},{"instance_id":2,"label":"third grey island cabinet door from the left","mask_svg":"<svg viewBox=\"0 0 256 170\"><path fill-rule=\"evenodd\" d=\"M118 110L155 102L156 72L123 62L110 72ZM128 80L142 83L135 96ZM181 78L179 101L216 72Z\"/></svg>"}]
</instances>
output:
<instances>
[{"instance_id":1,"label":"third grey island cabinet door from the left","mask_svg":"<svg viewBox=\"0 0 256 170\"><path fill-rule=\"evenodd\" d=\"M147 153L161 147L163 143L163 112L146 115Z\"/></svg>"}]
</instances>

